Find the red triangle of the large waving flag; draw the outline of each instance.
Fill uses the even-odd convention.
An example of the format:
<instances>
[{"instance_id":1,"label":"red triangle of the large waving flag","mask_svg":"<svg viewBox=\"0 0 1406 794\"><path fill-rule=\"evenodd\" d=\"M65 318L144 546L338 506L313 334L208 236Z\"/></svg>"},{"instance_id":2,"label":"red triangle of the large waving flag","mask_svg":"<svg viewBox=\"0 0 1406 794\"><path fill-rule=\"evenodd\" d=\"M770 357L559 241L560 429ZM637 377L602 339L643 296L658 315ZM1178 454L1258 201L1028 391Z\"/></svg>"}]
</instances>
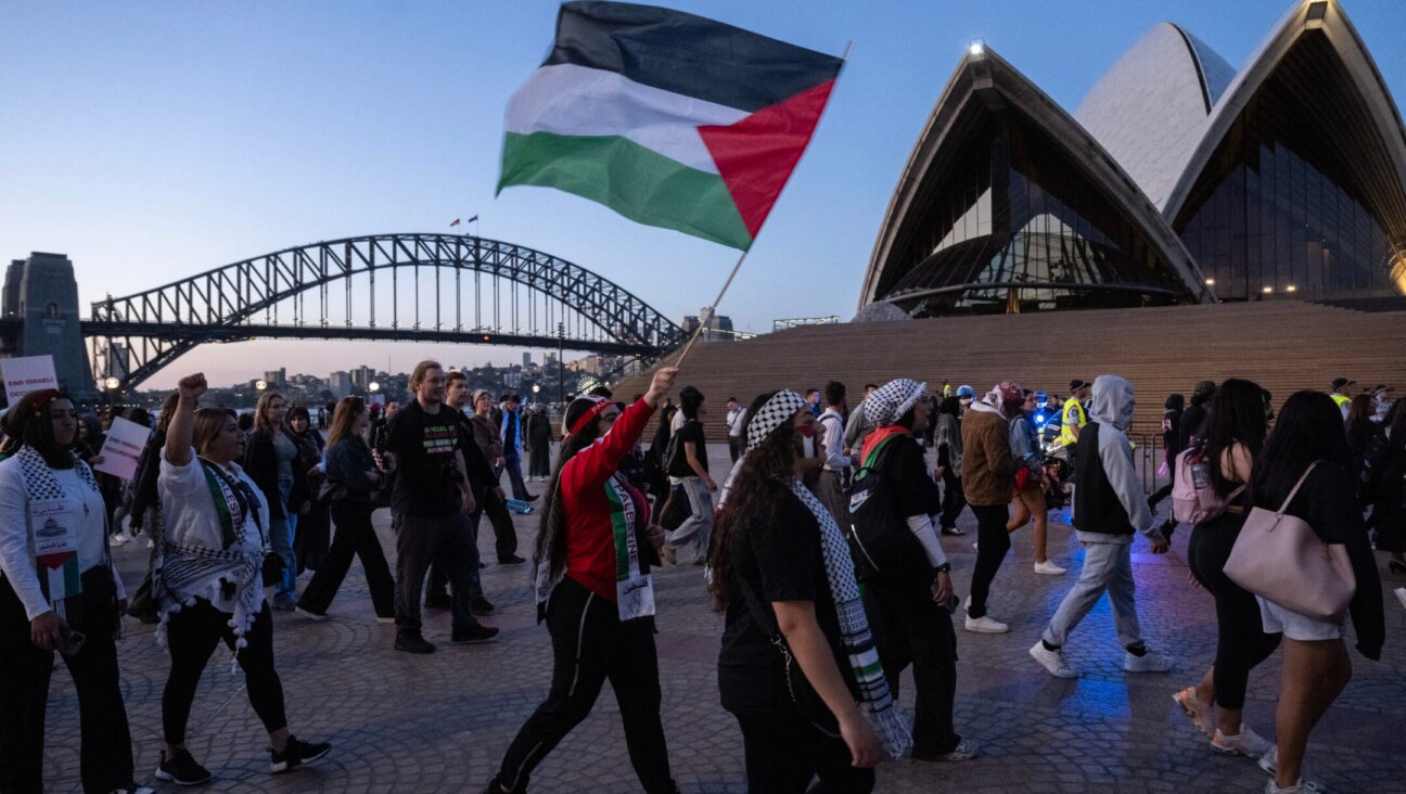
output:
<instances>
[{"instance_id":1,"label":"red triangle of the large waving flag","mask_svg":"<svg viewBox=\"0 0 1406 794\"><path fill-rule=\"evenodd\" d=\"M699 126L737 211L754 237L815 132L835 87L828 80L727 126Z\"/></svg>"}]
</instances>

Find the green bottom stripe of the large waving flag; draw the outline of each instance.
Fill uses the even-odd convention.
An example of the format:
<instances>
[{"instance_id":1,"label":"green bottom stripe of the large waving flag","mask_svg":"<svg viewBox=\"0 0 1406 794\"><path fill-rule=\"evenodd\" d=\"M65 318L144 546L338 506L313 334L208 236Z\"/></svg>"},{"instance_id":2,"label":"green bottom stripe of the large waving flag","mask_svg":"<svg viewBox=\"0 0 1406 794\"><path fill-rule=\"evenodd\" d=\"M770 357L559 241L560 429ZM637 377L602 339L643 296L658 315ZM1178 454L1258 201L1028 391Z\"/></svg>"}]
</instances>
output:
<instances>
[{"instance_id":1,"label":"green bottom stripe of the large waving flag","mask_svg":"<svg viewBox=\"0 0 1406 794\"><path fill-rule=\"evenodd\" d=\"M752 245L723 177L627 138L509 132L498 190L513 184L555 187L599 201L631 221L734 249Z\"/></svg>"}]
</instances>

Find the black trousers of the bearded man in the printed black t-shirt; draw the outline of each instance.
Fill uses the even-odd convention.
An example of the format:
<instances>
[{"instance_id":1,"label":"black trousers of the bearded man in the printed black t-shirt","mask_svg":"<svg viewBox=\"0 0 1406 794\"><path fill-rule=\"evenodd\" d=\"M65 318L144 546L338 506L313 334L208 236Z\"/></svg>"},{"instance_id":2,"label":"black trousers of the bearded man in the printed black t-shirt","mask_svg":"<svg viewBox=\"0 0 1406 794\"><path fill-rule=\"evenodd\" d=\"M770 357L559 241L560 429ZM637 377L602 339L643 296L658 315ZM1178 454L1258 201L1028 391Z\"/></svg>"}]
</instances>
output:
<instances>
[{"instance_id":1,"label":"black trousers of the bearded man in the printed black t-shirt","mask_svg":"<svg viewBox=\"0 0 1406 794\"><path fill-rule=\"evenodd\" d=\"M395 519L395 631L402 637L420 635L420 589L430 562L444 566L453 585L453 631L465 632L478 625L468 603L478 578L478 544L468 516L453 513L444 519L401 514Z\"/></svg>"}]
</instances>

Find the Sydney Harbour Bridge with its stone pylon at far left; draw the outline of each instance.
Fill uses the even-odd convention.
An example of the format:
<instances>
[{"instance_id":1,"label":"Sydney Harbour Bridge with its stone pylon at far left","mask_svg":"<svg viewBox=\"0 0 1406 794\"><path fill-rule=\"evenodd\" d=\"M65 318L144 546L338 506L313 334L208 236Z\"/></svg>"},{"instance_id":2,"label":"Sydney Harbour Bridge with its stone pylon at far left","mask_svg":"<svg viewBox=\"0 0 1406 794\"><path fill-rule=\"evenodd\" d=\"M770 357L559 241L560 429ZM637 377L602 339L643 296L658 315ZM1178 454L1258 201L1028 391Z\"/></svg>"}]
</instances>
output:
<instances>
[{"instance_id":1,"label":"Sydney Harbour Bridge with its stone pylon at far left","mask_svg":"<svg viewBox=\"0 0 1406 794\"><path fill-rule=\"evenodd\" d=\"M22 264L15 261L11 270ZM0 318L0 339L10 356L44 353L25 343L37 339L25 323L49 323L55 336L65 313L63 301L51 301L46 309L35 305L42 295L11 299L21 281L14 274L7 278ZM35 275L28 281L42 284ZM685 339L683 329L665 315L581 266L513 243L441 233L370 235L288 247L96 301L76 325L94 382L121 389L139 385L202 343L501 344L648 361ZM86 391L77 384L69 389Z\"/></svg>"}]
</instances>

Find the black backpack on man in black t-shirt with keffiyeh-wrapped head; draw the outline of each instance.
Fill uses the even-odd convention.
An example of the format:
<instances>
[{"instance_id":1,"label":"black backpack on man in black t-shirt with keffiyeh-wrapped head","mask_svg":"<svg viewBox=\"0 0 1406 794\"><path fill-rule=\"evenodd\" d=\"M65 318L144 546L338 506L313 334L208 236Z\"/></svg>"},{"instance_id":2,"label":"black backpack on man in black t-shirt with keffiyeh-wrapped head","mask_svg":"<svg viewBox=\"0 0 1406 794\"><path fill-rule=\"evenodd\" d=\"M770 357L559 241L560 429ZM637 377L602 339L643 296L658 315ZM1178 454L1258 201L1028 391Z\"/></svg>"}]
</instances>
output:
<instances>
[{"instance_id":1,"label":"black backpack on man in black t-shirt with keffiyeh-wrapped head","mask_svg":"<svg viewBox=\"0 0 1406 794\"><path fill-rule=\"evenodd\" d=\"M914 548L917 538L908 531L908 523L897 510L897 493L891 479L883 475L879 465L883 453L894 438L884 438L865 457L855 482L849 488L849 521L845 540L849 541L849 555L855 559L855 576L863 582L880 575L890 564L901 559L896 555L922 554ZM924 559L927 559L924 557Z\"/></svg>"}]
</instances>

